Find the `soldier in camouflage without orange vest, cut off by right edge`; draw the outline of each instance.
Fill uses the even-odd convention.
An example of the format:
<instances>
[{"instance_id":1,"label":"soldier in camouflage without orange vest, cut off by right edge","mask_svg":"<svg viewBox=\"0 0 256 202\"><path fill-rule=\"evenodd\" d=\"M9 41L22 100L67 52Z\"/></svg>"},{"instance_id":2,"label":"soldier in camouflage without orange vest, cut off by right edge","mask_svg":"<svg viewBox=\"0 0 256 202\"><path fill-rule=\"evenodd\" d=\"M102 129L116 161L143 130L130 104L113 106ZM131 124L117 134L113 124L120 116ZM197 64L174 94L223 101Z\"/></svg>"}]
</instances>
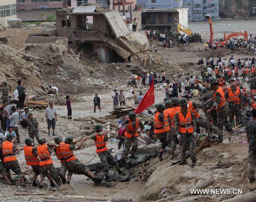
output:
<instances>
[{"instance_id":1,"label":"soldier in camouflage without orange vest, cut off by right edge","mask_svg":"<svg viewBox=\"0 0 256 202\"><path fill-rule=\"evenodd\" d=\"M255 181L254 168L256 165L256 109L251 111L252 120L245 127L247 142L249 143L248 178L249 182Z\"/></svg>"}]
</instances>

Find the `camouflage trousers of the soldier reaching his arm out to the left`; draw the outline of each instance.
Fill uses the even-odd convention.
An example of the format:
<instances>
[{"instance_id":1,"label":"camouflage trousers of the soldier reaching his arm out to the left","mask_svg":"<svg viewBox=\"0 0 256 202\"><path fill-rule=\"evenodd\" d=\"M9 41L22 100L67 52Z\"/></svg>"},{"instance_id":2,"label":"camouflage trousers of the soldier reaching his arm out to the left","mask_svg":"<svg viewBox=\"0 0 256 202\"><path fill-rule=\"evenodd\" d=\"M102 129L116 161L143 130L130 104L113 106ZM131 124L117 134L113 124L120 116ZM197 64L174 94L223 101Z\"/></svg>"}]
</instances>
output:
<instances>
[{"instance_id":1,"label":"camouflage trousers of the soldier reaching his arm out to the left","mask_svg":"<svg viewBox=\"0 0 256 202\"><path fill-rule=\"evenodd\" d=\"M218 111L218 118L217 118L218 141L223 140L223 126L225 126L225 129L228 132L233 130L230 126L230 122L228 122L227 120L227 116L228 116L228 106L226 105L224 108L221 108Z\"/></svg>"}]
</instances>

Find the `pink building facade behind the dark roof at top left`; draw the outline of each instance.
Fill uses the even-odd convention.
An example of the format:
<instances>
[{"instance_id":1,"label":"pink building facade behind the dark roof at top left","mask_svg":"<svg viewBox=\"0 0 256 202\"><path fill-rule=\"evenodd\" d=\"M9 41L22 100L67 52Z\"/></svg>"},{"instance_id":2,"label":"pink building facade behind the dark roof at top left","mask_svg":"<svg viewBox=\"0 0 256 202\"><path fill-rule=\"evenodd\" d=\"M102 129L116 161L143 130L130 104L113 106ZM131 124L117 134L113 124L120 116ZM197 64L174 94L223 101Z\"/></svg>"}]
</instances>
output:
<instances>
[{"instance_id":1,"label":"pink building facade behind the dark roof at top left","mask_svg":"<svg viewBox=\"0 0 256 202\"><path fill-rule=\"evenodd\" d=\"M17 10L36 10L40 7L47 9L64 9L71 6L71 0L17 0Z\"/></svg>"}]
</instances>

